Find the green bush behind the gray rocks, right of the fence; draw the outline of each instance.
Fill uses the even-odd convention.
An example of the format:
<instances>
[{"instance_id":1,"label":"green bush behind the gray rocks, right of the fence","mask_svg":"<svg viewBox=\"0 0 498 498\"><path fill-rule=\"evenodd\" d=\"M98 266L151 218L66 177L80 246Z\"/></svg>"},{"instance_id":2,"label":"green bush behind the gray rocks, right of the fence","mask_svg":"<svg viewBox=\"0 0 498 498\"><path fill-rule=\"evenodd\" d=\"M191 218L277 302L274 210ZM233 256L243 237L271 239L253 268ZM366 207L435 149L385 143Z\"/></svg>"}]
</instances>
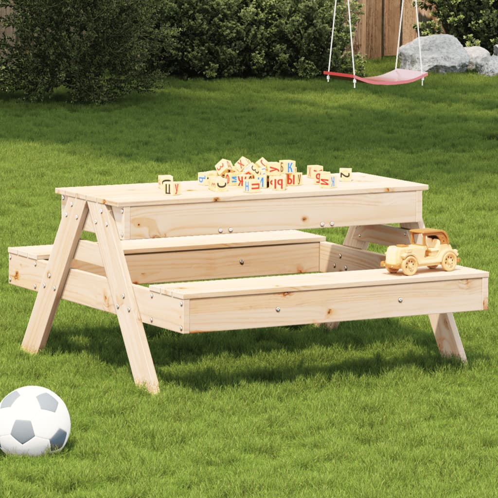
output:
<instances>
[{"instance_id":1,"label":"green bush behind the gray rocks, right of the fence","mask_svg":"<svg viewBox=\"0 0 498 498\"><path fill-rule=\"evenodd\" d=\"M422 23L421 34L456 36L464 45L481 45L493 51L498 43L498 0L422 0L421 8L433 9L433 19Z\"/></svg>"}]
</instances>

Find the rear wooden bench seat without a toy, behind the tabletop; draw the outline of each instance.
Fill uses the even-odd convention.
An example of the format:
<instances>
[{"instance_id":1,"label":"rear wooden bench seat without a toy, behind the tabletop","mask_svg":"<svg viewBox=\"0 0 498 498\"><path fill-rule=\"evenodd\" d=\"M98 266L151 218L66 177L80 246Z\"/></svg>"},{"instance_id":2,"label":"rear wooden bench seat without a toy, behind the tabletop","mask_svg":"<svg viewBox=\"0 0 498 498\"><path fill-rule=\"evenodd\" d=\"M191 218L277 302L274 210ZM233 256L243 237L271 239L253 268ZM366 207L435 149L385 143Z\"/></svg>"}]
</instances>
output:
<instances>
[{"instance_id":1,"label":"rear wooden bench seat without a toy, behind the tabletop","mask_svg":"<svg viewBox=\"0 0 498 498\"><path fill-rule=\"evenodd\" d=\"M133 283L319 271L325 237L299 230L121 241ZM52 245L9 248L10 254L48 259ZM80 240L71 268L105 275L95 242Z\"/></svg>"}]
</instances>

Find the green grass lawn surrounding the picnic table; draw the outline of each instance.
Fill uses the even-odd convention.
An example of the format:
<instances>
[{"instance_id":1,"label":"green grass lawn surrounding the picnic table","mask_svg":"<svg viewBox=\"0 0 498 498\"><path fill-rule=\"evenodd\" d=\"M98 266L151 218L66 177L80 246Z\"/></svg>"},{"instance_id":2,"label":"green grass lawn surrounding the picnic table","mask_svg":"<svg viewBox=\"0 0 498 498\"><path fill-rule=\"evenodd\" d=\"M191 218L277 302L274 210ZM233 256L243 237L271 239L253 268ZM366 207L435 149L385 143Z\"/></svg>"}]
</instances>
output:
<instances>
[{"instance_id":1,"label":"green grass lawn surrounding the picnic table","mask_svg":"<svg viewBox=\"0 0 498 498\"><path fill-rule=\"evenodd\" d=\"M393 59L370 62L369 74ZM0 455L0 497L498 496L497 78L168 78L105 107L0 95L0 398L66 402L66 448ZM296 159L429 184L427 227L490 271L490 309L456 314L468 365L426 316L181 336L146 326L160 393L137 388L114 315L63 301L47 347L21 350L35 293L8 246L51 244L55 187L194 179L222 157ZM319 231L342 242L345 229Z\"/></svg>"}]
</instances>

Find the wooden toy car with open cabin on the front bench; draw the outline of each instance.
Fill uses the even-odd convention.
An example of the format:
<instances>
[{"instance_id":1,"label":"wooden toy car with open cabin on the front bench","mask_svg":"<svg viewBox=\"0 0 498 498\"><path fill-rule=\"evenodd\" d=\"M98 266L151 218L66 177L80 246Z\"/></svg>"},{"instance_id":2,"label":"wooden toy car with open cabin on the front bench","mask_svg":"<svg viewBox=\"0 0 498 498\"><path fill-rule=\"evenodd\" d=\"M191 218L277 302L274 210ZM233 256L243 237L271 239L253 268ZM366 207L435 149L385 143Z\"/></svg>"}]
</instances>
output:
<instances>
[{"instance_id":1,"label":"wooden toy car with open cabin on the front bench","mask_svg":"<svg viewBox=\"0 0 498 498\"><path fill-rule=\"evenodd\" d=\"M422 236L422 244L415 244L415 235ZM401 268L405 275L414 275L419 266L436 268L440 264L443 270L452 271L460 262L458 251L452 249L448 234L444 230L410 230L410 242L411 244L389 246L385 260L380 261L380 266L387 268L389 273L396 273Z\"/></svg>"}]
</instances>

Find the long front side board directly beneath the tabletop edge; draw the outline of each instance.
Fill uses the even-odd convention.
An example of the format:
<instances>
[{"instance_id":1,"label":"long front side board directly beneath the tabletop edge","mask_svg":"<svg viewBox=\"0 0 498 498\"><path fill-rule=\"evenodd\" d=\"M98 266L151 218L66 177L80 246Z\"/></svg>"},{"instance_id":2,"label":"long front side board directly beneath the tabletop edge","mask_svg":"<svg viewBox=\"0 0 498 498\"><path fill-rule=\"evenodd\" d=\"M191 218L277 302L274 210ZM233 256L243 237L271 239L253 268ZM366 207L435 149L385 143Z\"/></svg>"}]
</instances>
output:
<instances>
[{"instance_id":1,"label":"long front side board directly beneath the tabletop edge","mask_svg":"<svg viewBox=\"0 0 498 498\"><path fill-rule=\"evenodd\" d=\"M354 183L354 182L345 182ZM300 187L295 187L296 189ZM321 189L326 190L326 189ZM339 189L332 189L339 190ZM132 239L266 230L295 230L412 222L417 218L416 192L379 192L294 199L143 206L131 208ZM253 215L254 209L264 213Z\"/></svg>"}]
</instances>

